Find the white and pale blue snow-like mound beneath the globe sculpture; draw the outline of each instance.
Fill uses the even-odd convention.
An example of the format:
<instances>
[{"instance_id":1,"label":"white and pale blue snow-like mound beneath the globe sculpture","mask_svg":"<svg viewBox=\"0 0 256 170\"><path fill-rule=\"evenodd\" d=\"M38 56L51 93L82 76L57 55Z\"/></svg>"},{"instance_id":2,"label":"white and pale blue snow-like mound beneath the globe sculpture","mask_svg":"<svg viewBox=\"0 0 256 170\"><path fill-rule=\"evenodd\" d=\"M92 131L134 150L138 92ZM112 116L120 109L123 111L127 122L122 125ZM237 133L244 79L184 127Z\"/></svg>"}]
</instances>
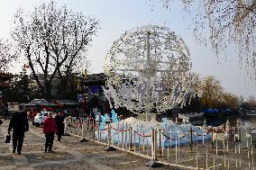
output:
<instances>
[{"instance_id":1,"label":"white and pale blue snow-like mound beneath the globe sculpture","mask_svg":"<svg viewBox=\"0 0 256 170\"><path fill-rule=\"evenodd\" d=\"M106 128L107 126L105 126ZM210 134L206 134L202 128L198 128L193 126L192 124L181 124L178 125L173 121L142 121L135 119L133 117L127 118L123 121L117 121L111 123L111 138L112 142L117 143L122 141L122 131L123 131L123 142L125 142L125 135L127 135L126 142L127 144L130 142L130 127L133 128L132 133L132 142L134 145L134 141L136 145L151 145L151 133L152 129L157 130L157 144L159 145L159 141L161 139L161 146L174 146L176 145L176 140L180 145L184 145L185 143L190 142L190 128L192 129L192 140L202 141L203 134L204 140L211 139ZM97 131L96 131L97 133ZM164 135L163 135L164 134ZM97 134L96 134L97 136ZM144 138L143 138L144 136ZM101 139L107 139L108 131L101 130Z\"/></svg>"}]
</instances>

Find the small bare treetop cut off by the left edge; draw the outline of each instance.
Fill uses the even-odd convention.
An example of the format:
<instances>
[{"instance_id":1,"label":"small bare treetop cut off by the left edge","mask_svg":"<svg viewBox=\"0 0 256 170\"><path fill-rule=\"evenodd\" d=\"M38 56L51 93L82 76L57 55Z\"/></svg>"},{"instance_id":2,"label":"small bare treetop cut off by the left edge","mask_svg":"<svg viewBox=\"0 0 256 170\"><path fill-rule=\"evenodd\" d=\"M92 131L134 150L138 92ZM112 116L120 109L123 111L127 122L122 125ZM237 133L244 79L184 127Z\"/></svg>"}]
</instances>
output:
<instances>
[{"instance_id":1,"label":"small bare treetop cut off by the left edge","mask_svg":"<svg viewBox=\"0 0 256 170\"><path fill-rule=\"evenodd\" d=\"M0 71L7 70L12 66L12 61L17 58L11 43L8 40L0 39Z\"/></svg>"}]
</instances>

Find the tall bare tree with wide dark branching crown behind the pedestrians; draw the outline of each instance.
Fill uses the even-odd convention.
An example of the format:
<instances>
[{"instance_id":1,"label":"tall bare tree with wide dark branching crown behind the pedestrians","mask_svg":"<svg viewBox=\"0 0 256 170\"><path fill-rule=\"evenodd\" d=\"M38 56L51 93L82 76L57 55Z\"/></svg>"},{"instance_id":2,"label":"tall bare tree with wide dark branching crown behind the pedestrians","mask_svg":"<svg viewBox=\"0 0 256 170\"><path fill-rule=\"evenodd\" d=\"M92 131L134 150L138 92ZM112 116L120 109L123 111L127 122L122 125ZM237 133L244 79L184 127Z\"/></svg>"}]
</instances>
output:
<instances>
[{"instance_id":1,"label":"tall bare tree with wide dark branching crown behind the pedestrians","mask_svg":"<svg viewBox=\"0 0 256 170\"><path fill-rule=\"evenodd\" d=\"M26 15L22 9L15 14L12 36L24 50L32 75L47 100L51 98L54 77L69 75L79 62L84 62L87 47L98 21L54 2L41 4ZM42 82L36 70L40 70Z\"/></svg>"}]
</instances>

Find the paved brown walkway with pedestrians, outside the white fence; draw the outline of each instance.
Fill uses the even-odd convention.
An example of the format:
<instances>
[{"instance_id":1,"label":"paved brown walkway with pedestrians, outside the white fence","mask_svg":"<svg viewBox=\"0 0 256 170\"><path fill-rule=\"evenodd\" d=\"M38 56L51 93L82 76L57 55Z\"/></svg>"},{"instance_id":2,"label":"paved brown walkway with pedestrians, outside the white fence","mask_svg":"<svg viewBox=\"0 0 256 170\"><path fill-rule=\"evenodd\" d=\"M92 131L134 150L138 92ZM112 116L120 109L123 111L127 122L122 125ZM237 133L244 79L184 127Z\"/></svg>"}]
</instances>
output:
<instances>
[{"instance_id":1,"label":"paved brown walkway with pedestrians, outside the white fence","mask_svg":"<svg viewBox=\"0 0 256 170\"><path fill-rule=\"evenodd\" d=\"M5 144L7 125L4 121L0 126L0 170L118 170L152 169L145 166L149 161L142 157L135 157L122 151L104 151L105 146L93 142L78 142L78 138L64 136L61 141L54 140L55 153L44 153L44 135L41 128L30 127L25 133L22 155L12 153L12 142ZM156 169L174 169L161 166Z\"/></svg>"}]
</instances>

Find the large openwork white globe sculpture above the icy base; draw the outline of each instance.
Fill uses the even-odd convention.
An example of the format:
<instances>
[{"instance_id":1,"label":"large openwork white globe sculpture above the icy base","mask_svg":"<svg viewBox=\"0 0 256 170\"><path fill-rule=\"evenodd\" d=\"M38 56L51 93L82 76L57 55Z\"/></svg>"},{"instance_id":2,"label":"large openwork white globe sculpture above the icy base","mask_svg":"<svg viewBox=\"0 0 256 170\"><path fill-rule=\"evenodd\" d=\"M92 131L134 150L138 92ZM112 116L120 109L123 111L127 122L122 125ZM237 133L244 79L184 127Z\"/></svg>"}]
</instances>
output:
<instances>
[{"instance_id":1,"label":"large openwork white globe sculpture above the icy base","mask_svg":"<svg viewBox=\"0 0 256 170\"><path fill-rule=\"evenodd\" d=\"M184 41L163 26L126 31L105 58L105 96L136 113L184 105L190 94L191 59ZM111 104L112 107L112 104Z\"/></svg>"}]
</instances>

